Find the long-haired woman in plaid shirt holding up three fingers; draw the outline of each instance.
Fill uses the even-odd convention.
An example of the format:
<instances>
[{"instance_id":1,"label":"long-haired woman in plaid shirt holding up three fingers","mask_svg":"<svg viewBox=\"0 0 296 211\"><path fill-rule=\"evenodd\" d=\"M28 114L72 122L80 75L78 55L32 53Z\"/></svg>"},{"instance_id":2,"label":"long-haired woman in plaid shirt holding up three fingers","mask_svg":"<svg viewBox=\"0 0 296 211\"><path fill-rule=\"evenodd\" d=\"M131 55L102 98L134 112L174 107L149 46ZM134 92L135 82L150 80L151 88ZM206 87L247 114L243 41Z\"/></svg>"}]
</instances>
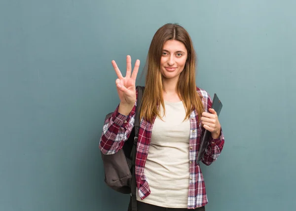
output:
<instances>
[{"instance_id":1,"label":"long-haired woman in plaid shirt holding up three fingers","mask_svg":"<svg viewBox=\"0 0 296 211\"><path fill-rule=\"evenodd\" d=\"M203 176L195 160L205 130L211 132L202 157L210 165L220 155L224 137L209 94L195 84L196 55L186 30L166 24L157 30L148 51L146 86L140 113L136 156L138 211L204 211L208 203ZM100 140L105 154L117 152L134 127L136 77L126 59L123 77L115 61L120 104L106 120Z\"/></svg>"}]
</instances>

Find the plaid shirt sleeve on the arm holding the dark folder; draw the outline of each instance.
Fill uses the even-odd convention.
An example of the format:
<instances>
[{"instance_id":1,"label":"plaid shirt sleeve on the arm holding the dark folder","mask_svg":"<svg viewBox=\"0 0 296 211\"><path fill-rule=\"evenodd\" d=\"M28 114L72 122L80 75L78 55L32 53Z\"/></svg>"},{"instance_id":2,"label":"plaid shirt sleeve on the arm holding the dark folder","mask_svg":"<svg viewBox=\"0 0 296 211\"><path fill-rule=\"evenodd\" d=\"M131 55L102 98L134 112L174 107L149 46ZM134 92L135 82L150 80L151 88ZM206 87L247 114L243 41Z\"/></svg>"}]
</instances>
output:
<instances>
[{"instance_id":1,"label":"plaid shirt sleeve on the arm holding the dark folder","mask_svg":"<svg viewBox=\"0 0 296 211\"><path fill-rule=\"evenodd\" d=\"M206 93L204 97L205 97L205 107L207 107L207 111L209 112L209 108L212 107L212 100L208 93ZM217 158L221 154L223 145L224 145L224 135L221 129L221 135L219 138L213 139L212 136L210 136L208 145L205 148L205 153L201 158L201 161L207 166L212 164L214 161L217 160Z\"/></svg>"}]
</instances>

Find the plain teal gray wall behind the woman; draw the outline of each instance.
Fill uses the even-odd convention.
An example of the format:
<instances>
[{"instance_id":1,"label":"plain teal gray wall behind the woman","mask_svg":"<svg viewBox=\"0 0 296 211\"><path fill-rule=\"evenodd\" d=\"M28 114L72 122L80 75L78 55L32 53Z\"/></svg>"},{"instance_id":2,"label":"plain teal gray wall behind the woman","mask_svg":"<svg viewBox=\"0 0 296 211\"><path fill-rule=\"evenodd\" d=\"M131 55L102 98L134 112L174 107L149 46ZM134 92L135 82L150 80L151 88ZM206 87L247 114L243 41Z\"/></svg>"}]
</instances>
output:
<instances>
[{"instance_id":1,"label":"plain teal gray wall behind the woman","mask_svg":"<svg viewBox=\"0 0 296 211\"><path fill-rule=\"evenodd\" d=\"M111 60L125 72L129 54L142 70L168 22L187 29L198 85L223 103L206 210L295 211L295 11L295 0L1 0L0 211L126 210L98 149L119 103Z\"/></svg>"}]
</instances>

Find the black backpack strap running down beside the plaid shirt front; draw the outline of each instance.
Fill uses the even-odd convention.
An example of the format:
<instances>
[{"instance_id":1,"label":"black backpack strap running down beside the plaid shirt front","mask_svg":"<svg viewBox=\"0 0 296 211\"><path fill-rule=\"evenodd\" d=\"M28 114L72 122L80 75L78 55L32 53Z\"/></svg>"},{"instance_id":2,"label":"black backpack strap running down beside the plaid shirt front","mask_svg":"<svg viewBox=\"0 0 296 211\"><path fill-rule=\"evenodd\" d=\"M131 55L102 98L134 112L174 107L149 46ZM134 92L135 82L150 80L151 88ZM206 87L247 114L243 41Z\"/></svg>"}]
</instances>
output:
<instances>
[{"instance_id":1,"label":"black backpack strap running down beside the plaid shirt front","mask_svg":"<svg viewBox=\"0 0 296 211\"><path fill-rule=\"evenodd\" d=\"M135 116L135 139L134 145L132 149L132 185L131 185L131 194L132 194L132 211L137 211L137 197L136 197L136 190L137 190L137 183L136 183L136 174L135 174L135 165L136 165L136 154L137 154L137 142L138 142L138 134L140 128L140 111L142 106L142 97L144 93L143 86L137 86L138 89L138 98L137 98L137 109L136 109L136 116Z\"/></svg>"}]
</instances>

